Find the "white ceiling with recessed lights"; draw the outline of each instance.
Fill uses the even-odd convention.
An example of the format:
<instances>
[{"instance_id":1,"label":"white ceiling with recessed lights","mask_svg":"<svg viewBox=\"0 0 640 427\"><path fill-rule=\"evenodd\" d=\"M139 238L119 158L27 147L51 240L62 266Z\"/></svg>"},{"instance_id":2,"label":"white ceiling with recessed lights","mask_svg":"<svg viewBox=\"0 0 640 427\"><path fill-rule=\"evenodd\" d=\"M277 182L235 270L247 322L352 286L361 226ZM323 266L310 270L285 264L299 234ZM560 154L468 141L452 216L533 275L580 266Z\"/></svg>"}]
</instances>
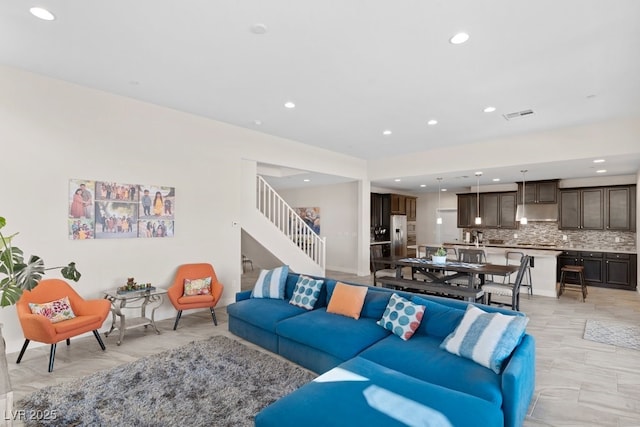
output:
<instances>
[{"instance_id":1,"label":"white ceiling with recessed lights","mask_svg":"<svg viewBox=\"0 0 640 427\"><path fill-rule=\"evenodd\" d=\"M0 2L0 63L363 159L640 116L638 0L38 1L51 22L32 5Z\"/></svg>"}]
</instances>

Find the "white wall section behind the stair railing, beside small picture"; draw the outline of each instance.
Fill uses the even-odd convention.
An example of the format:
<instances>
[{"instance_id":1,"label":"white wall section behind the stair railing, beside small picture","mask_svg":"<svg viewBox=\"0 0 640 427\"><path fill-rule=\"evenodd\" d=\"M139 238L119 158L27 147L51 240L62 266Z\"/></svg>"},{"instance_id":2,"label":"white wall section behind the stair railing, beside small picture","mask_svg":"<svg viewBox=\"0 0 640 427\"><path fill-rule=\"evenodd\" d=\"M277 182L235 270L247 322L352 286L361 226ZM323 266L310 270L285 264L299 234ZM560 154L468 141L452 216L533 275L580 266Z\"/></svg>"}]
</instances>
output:
<instances>
[{"instance_id":1,"label":"white wall section behind the stair railing, beside small picture","mask_svg":"<svg viewBox=\"0 0 640 427\"><path fill-rule=\"evenodd\" d=\"M320 235L327 241L327 269L358 274L358 183L282 190L279 194L293 208L320 208ZM370 218L369 218L370 220Z\"/></svg>"}]
</instances>

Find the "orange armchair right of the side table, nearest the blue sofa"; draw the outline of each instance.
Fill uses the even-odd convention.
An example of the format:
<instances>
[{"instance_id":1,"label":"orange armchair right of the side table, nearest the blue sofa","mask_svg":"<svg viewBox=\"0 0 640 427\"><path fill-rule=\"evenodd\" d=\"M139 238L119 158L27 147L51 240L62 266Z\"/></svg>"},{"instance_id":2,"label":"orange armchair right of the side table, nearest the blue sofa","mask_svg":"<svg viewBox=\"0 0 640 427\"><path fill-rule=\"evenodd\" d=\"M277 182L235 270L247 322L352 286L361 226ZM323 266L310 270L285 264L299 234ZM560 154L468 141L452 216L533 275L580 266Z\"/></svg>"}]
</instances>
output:
<instances>
[{"instance_id":1,"label":"orange armchair right of the side table, nearest the blue sofa","mask_svg":"<svg viewBox=\"0 0 640 427\"><path fill-rule=\"evenodd\" d=\"M203 279L206 277L211 277L211 292L206 295L184 295L184 281L185 279ZM211 318L213 319L213 324L218 326L218 320L216 319L216 312L214 311L214 307L220 301L220 297L222 296L222 290L224 289L224 285L218 281L216 277L216 272L213 269L211 264L207 263L198 263L198 264L183 264L178 267L176 271L176 276L173 279L173 283L169 286L167 291L167 295L169 296L169 301L171 304L178 310L178 315L176 316L176 322L173 325L173 330L175 331L178 327L178 322L180 321L180 316L182 316L182 310L189 310L192 308L209 308L211 311Z\"/></svg>"}]
</instances>

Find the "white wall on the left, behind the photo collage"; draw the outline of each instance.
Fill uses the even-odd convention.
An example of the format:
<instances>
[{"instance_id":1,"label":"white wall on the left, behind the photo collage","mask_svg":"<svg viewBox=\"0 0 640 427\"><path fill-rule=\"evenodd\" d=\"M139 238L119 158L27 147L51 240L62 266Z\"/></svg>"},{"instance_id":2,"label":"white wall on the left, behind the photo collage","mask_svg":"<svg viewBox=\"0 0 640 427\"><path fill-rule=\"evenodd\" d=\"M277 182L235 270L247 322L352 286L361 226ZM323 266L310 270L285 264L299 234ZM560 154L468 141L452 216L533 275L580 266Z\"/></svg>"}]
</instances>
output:
<instances>
[{"instance_id":1,"label":"white wall on the left, behind the photo collage","mask_svg":"<svg viewBox=\"0 0 640 427\"><path fill-rule=\"evenodd\" d=\"M83 276L73 285L84 297L101 298L131 276L168 285L179 264L211 262L225 285L221 304L232 302L240 288L241 228L233 224L241 218L243 159L366 180L360 159L9 67L0 66L0 93L3 232L19 231L15 244L48 266L76 261ZM175 187L175 237L69 240L70 178ZM156 312L174 315L167 301ZM0 322L7 351L17 351L15 308L0 310Z\"/></svg>"}]
</instances>

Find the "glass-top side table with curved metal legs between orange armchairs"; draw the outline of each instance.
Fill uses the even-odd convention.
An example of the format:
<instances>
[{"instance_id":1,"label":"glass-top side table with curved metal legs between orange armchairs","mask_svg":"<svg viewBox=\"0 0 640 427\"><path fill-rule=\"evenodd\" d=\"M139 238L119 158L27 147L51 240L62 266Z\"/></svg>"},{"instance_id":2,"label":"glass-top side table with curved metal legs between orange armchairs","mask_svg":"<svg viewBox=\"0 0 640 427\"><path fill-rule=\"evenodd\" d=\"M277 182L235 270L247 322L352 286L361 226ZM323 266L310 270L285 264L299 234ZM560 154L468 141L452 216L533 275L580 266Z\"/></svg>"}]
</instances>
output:
<instances>
[{"instance_id":1,"label":"glass-top side table with curved metal legs between orange armchairs","mask_svg":"<svg viewBox=\"0 0 640 427\"><path fill-rule=\"evenodd\" d=\"M113 316L111 329L109 329L109 332L104 334L106 337L117 329L119 332L117 344L120 345L124 339L124 331L131 328L138 328L140 326L144 326L146 328L149 325L151 325L157 334L160 334L153 317L156 309L162 305L162 301L164 300L163 297L167 293L166 289L155 287L137 291L109 289L103 293L105 299L111 301L111 314ZM147 317L147 306L152 309L151 317ZM140 317L127 318L122 311L124 308L139 308ZM116 321L116 316L120 318L120 322Z\"/></svg>"}]
</instances>

